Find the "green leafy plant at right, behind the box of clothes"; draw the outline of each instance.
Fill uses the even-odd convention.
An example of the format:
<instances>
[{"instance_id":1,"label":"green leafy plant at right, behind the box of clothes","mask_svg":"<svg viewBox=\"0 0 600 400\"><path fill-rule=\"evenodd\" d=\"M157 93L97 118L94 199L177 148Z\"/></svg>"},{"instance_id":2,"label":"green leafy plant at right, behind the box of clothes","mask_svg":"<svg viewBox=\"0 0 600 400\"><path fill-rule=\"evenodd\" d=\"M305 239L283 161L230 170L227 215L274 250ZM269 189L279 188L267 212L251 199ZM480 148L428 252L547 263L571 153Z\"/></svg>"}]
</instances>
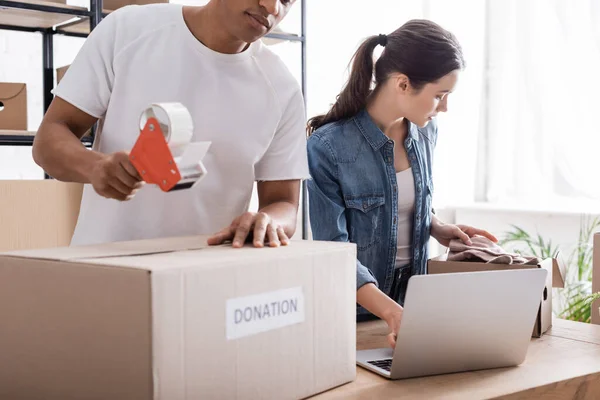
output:
<instances>
[{"instance_id":1,"label":"green leafy plant at right, behind the box of clothes","mask_svg":"<svg viewBox=\"0 0 600 400\"><path fill-rule=\"evenodd\" d=\"M592 245L591 238L600 228L600 217L591 219L582 216L577 243L570 253L567 261L565 287L557 290L556 314L560 318L573 321L591 321L591 303L600 298L599 293L591 293L592 289ZM539 233L535 236L522 228L512 225L512 230L506 232L500 242L502 246L525 245L523 248L515 247L513 251L538 258L556 257L558 245L553 245L551 239L544 239Z\"/></svg>"}]
</instances>

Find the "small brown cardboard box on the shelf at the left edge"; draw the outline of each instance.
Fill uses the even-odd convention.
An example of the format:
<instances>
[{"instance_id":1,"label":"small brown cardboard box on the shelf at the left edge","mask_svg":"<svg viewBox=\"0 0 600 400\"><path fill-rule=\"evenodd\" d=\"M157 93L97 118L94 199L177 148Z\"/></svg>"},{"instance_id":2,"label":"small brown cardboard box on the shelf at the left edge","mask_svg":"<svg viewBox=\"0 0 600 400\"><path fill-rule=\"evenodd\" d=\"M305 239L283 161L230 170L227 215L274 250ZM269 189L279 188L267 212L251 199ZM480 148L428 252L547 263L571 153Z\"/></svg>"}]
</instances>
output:
<instances>
[{"instance_id":1,"label":"small brown cardboard box on the shelf at the left edge","mask_svg":"<svg viewBox=\"0 0 600 400\"><path fill-rule=\"evenodd\" d=\"M0 82L0 129L27 130L27 85Z\"/></svg>"}]
</instances>

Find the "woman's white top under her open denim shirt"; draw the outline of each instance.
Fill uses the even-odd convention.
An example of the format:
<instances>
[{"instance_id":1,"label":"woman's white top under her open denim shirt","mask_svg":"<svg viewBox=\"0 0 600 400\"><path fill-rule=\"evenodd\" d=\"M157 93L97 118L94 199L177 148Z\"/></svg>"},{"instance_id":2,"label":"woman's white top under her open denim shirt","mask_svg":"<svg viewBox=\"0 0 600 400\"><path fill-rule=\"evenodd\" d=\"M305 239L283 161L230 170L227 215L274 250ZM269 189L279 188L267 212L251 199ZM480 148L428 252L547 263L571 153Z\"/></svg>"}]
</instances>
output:
<instances>
[{"instance_id":1,"label":"woman's white top under her open denim shirt","mask_svg":"<svg viewBox=\"0 0 600 400\"><path fill-rule=\"evenodd\" d=\"M398 251L396 268L412 259L412 225L415 212L415 181L412 168L396 173L398 184Z\"/></svg>"}]
</instances>

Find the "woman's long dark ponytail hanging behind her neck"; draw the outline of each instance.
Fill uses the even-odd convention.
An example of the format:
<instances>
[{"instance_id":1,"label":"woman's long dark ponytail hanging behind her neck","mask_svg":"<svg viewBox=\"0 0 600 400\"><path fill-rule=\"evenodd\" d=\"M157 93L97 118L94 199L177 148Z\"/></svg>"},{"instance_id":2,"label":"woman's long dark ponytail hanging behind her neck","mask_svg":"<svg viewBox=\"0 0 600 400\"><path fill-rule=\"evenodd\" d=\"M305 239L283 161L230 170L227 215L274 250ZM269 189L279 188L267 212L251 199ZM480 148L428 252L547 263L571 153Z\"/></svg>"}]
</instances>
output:
<instances>
[{"instance_id":1,"label":"woman's long dark ponytail hanging behind her neck","mask_svg":"<svg viewBox=\"0 0 600 400\"><path fill-rule=\"evenodd\" d=\"M307 132L309 135L323 125L358 114L367 105L373 82L373 50L378 44L385 45L381 36L369 37L356 50L346 86L337 96L335 104L327 114L308 120Z\"/></svg>"}]
</instances>

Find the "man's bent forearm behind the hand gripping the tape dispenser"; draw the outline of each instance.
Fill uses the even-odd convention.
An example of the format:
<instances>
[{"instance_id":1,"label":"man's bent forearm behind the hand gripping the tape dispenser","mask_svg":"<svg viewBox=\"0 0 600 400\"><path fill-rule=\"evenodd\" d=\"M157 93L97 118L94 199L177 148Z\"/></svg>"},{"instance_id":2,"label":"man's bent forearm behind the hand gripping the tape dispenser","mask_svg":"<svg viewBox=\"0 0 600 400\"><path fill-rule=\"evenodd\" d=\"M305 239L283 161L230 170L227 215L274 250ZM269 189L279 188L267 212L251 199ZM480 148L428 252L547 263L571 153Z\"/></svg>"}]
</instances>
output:
<instances>
[{"instance_id":1,"label":"man's bent forearm behind the hand gripping the tape dispenser","mask_svg":"<svg viewBox=\"0 0 600 400\"><path fill-rule=\"evenodd\" d=\"M85 148L61 123L40 126L33 146L33 158L46 173L60 181L90 183L94 165L103 154Z\"/></svg>"}]
</instances>

